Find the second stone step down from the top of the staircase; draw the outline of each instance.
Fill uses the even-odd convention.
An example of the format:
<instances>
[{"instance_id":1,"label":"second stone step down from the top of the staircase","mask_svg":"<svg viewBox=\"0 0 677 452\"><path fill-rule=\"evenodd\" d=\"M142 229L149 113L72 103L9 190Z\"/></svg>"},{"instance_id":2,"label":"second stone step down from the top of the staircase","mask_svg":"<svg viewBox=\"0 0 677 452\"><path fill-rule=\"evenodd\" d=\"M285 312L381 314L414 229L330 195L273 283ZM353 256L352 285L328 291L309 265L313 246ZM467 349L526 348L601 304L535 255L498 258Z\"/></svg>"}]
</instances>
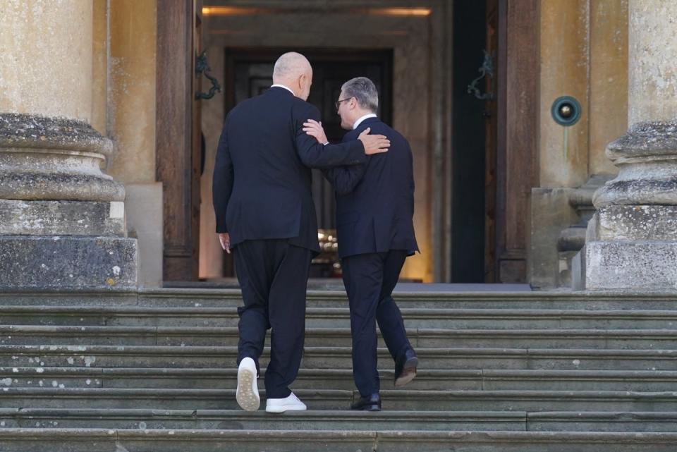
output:
<instances>
[{"instance_id":1,"label":"second stone step down from the top of the staircase","mask_svg":"<svg viewBox=\"0 0 677 452\"><path fill-rule=\"evenodd\" d=\"M408 328L677 329L677 310L437 309L401 307ZM0 324L237 326L236 307L0 306ZM349 328L347 307L308 307L306 326Z\"/></svg>"}]
</instances>

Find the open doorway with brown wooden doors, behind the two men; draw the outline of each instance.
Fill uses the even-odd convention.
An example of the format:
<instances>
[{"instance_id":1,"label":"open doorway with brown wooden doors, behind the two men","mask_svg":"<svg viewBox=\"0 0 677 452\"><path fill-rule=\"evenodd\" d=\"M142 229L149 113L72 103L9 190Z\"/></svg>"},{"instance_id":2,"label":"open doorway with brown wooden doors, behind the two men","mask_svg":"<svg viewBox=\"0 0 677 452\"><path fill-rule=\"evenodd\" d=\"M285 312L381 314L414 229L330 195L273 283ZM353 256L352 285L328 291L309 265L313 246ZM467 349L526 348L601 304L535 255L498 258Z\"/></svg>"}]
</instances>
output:
<instances>
[{"instance_id":1,"label":"open doorway with brown wooden doors, behind the two men","mask_svg":"<svg viewBox=\"0 0 677 452\"><path fill-rule=\"evenodd\" d=\"M375 81L386 96L382 117L408 139L415 162L414 227L421 253L407 259L402 277L425 282L526 280L530 190L538 179L538 124L533 114L539 108L537 0L429 0L425 7L382 2L370 8L335 0L303 11L295 2L275 7L264 0L227 7L227 0L212 3L205 5L202 16L197 12L200 2L175 2L158 11L156 157L157 180L164 186L165 280L193 278L198 236L200 278L203 263L214 270L214 277L232 274L232 269L223 269L214 228L203 228L202 220L213 216L205 191L213 155L207 156L198 192L200 209L195 209L192 188L193 99L199 87L193 63L200 49L207 51L217 76L226 75L226 49L269 65L281 51L305 51L316 66L315 90L329 93L329 101L312 99L323 113L323 104L329 102L324 117L328 128L336 118L331 102L339 82L353 75L378 79L365 73L368 62L375 61L382 75ZM176 18L182 20L178 25L183 34L176 32ZM303 30L290 26L299 21L306 25ZM360 27L355 28L356 23ZM197 46L200 35L204 45ZM484 49L492 56L494 78L482 78L476 86L480 93L494 92L495 100L467 92L479 75ZM275 54L262 59L265 51ZM322 59L329 60L325 72L341 79L333 87L330 78L319 74ZM350 61L362 70L349 73ZM267 80L251 80L252 87L269 86L270 67ZM320 78L327 78L329 86L319 86L324 83ZM235 89L233 80L224 77L223 92L201 102L207 154L216 149L226 102L234 102L234 92L230 101L224 95ZM316 200L331 199L322 185L315 190ZM331 206L323 202L318 209L319 224L331 225ZM205 233L193 228L195 212ZM203 252L203 242L211 252ZM219 265L209 267L213 262Z\"/></svg>"}]
</instances>

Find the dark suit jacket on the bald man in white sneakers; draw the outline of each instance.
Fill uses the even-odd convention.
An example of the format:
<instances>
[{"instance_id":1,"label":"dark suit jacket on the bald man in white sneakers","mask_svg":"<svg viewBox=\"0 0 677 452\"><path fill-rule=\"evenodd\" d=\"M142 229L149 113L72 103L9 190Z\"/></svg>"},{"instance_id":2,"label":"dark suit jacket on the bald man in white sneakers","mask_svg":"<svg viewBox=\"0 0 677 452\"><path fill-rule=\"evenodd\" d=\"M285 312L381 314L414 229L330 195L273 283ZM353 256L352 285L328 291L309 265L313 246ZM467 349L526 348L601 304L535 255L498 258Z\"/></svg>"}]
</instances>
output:
<instances>
[{"instance_id":1,"label":"dark suit jacket on the bald man in white sneakers","mask_svg":"<svg viewBox=\"0 0 677 452\"><path fill-rule=\"evenodd\" d=\"M240 102L224 123L212 196L216 232L243 240L288 238L319 252L310 168L365 162L359 140L323 146L303 132L319 111L281 87Z\"/></svg>"}]
</instances>

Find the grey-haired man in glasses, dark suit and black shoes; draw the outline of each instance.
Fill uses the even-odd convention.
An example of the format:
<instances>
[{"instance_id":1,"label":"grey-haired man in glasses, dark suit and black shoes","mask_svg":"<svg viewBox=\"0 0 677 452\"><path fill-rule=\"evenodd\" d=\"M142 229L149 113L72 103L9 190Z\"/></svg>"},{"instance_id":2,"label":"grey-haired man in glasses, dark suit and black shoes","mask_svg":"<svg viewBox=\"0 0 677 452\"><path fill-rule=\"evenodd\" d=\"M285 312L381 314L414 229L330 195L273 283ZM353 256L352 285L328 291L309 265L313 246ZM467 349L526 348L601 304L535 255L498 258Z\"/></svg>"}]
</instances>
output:
<instances>
[{"instance_id":1,"label":"grey-haired man in glasses, dark suit and black shoes","mask_svg":"<svg viewBox=\"0 0 677 452\"><path fill-rule=\"evenodd\" d=\"M338 255L350 305L353 378L360 391L350 408L370 411L381 410L376 322L395 363L395 386L411 381L418 365L392 298L406 257L418 251L413 157L407 140L379 120L378 106L377 89L368 78L343 84L336 101L341 127L350 130L343 143L371 129L388 137L391 146L387 154L372 155L361 164L324 170L336 190ZM303 130L327 141L317 121L307 121Z\"/></svg>"}]
</instances>

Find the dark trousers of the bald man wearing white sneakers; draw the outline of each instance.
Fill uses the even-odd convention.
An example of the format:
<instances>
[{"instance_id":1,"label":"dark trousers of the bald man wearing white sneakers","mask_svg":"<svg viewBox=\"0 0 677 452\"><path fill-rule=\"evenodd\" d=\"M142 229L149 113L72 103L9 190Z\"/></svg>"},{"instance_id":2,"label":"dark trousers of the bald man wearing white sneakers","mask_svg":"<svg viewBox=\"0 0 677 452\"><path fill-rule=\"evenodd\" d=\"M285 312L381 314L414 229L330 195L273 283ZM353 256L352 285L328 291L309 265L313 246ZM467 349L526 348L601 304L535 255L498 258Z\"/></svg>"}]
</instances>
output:
<instances>
[{"instance_id":1,"label":"dark trousers of the bald man wearing white sneakers","mask_svg":"<svg viewBox=\"0 0 677 452\"><path fill-rule=\"evenodd\" d=\"M244 306L238 308L238 365L252 358L259 369L271 329L267 398L285 398L296 379L305 338L305 294L312 251L287 239L245 240L233 248Z\"/></svg>"}]
</instances>

